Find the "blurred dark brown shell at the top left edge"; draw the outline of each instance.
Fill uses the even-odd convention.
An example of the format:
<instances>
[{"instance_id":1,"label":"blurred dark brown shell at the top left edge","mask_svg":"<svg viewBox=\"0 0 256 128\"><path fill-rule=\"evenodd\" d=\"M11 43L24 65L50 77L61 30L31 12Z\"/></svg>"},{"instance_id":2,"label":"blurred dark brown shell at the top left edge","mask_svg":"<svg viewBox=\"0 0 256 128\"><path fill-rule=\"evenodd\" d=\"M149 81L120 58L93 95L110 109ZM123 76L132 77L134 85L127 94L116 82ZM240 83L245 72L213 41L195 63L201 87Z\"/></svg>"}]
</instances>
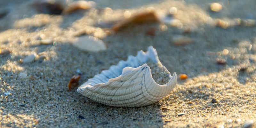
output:
<instances>
[{"instance_id":1,"label":"blurred dark brown shell at the top left edge","mask_svg":"<svg viewBox=\"0 0 256 128\"><path fill-rule=\"evenodd\" d=\"M60 15L65 5L66 3L59 0L37 0L31 4L37 12L51 15Z\"/></svg>"}]
</instances>

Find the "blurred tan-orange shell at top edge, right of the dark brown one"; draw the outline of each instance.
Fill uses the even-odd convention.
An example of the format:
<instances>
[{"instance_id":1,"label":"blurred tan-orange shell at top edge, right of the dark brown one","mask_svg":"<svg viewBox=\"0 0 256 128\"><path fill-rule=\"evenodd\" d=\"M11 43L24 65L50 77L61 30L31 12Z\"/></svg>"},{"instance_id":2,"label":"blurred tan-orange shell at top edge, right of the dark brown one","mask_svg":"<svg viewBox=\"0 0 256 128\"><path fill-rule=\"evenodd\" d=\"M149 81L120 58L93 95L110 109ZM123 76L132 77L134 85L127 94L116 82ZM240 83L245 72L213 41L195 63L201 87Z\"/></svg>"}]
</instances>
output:
<instances>
[{"instance_id":1,"label":"blurred tan-orange shell at top edge, right of the dark brown one","mask_svg":"<svg viewBox=\"0 0 256 128\"><path fill-rule=\"evenodd\" d=\"M95 2L93 1L75 1L70 3L63 11L62 13L67 15L72 12L78 11L78 10L88 10L95 6Z\"/></svg>"}]
</instances>

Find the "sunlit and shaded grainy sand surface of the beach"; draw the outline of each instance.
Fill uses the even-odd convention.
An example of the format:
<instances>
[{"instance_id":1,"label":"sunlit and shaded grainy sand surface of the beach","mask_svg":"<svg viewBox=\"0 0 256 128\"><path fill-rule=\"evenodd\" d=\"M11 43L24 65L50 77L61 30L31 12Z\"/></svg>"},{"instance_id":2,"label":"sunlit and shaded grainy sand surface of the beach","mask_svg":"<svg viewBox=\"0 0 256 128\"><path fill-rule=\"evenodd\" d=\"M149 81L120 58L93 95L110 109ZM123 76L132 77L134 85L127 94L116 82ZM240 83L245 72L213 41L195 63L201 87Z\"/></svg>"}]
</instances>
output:
<instances>
[{"instance_id":1,"label":"sunlit and shaded grainy sand surface of the beach","mask_svg":"<svg viewBox=\"0 0 256 128\"><path fill-rule=\"evenodd\" d=\"M34 2L0 1L0 127L256 127L256 25L244 23L256 20L255 0L95 0L95 7L69 15L38 12ZM212 2L222 10L212 12ZM153 10L161 17L171 7L179 25L109 31L127 11ZM99 38L107 49L72 45L83 35ZM193 43L178 45L180 36ZM118 108L68 91L72 76L80 74L81 85L150 45L171 74L188 76L159 102Z\"/></svg>"}]
</instances>

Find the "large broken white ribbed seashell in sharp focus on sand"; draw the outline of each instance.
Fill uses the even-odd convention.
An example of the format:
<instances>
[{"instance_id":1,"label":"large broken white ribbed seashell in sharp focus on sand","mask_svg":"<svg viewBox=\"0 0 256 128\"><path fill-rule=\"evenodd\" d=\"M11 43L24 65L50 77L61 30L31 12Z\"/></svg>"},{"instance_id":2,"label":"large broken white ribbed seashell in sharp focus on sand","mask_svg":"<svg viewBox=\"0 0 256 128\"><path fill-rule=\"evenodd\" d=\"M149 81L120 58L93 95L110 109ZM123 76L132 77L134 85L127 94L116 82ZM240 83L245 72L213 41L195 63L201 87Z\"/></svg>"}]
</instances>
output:
<instances>
[{"instance_id":1,"label":"large broken white ribbed seashell in sharp focus on sand","mask_svg":"<svg viewBox=\"0 0 256 128\"><path fill-rule=\"evenodd\" d=\"M152 78L146 64L151 60L160 65L156 49L139 51L117 65L103 70L78 87L77 92L96 102L115 107L141 107L153 104L172 92L177 83L176 73L169 75L169 82L159 85ZM140 66L141 65L141 66Z\"/></svg>"}]
</instances>

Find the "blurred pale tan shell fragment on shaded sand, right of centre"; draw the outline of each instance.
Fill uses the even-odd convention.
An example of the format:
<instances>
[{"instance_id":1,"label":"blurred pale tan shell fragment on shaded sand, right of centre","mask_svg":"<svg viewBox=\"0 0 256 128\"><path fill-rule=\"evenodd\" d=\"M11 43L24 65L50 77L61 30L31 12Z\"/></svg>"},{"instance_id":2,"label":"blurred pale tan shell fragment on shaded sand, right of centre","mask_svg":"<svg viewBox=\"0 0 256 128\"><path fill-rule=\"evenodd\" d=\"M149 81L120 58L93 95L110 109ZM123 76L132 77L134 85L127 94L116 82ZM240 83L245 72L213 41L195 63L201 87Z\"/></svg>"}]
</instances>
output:
<instances>
[{"instance_id":1,"label":"blurred pale tan shell fragment on shaded sand, right of centre","mask_svg":"<svg viewBox=\"0 0 256 128\"><path fill-rule=\"evenodd\" d=\"M174 35L172 37L172 42L177 46L187 45L194 43L195 41L187 36L181 36L181 35Z\"/></svg>"}]
</instances>

